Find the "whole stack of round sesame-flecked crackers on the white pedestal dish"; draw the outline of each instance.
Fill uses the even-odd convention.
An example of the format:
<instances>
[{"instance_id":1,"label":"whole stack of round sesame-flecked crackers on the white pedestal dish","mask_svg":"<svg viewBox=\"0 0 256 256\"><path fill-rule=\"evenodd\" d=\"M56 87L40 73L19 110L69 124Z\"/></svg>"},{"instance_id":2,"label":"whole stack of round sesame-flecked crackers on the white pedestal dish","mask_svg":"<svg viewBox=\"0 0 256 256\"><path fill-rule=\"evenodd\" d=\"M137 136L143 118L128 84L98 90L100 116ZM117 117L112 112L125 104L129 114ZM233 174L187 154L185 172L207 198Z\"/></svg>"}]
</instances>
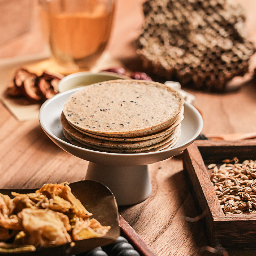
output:
<instances>
[{"instance_id":1,"label":"whole stack of round sesame-flecked crackers on the white pedestal dish","mask_svg":"<svg viewBox=\"0 0 256 256\"><path fill-rule=\"evenodd\" d=\"M182 95L164 84L114 80L92 84L64 104L61 124L72 144L104 152L141 153L173 147L183 120Z\"/></svg>"}]
</instances>

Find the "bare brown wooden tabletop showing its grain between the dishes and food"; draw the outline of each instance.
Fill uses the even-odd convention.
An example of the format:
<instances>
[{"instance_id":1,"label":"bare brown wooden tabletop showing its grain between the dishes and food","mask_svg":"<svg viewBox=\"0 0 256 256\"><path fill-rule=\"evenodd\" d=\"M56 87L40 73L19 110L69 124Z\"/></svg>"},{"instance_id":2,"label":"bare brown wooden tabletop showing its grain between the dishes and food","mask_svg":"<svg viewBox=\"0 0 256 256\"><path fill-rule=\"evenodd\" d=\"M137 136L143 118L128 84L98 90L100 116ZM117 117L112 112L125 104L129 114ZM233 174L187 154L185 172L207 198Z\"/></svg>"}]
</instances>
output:
<instances>
[{"instance_id":1,"label":"bare brown wooden tabletop showing its grain between the dishes and food","mask_svg":"<svg viewBox=\"0 0 256 256\"><path fill-rule=\"evenodd\" d=\"M141 69L135 40L143 22L142 2L117 1L115 24L108 44L112 57L134 71ZM246 9L248 36L256 42L256 2L237 2ZM0 14L4 15L1 10ZM30 31L0 45L1 60L45 52L36 11L32 18ZM252 58L250 67L255 66ZM256 132L255 82L224 94L186 90L196 96L204 119L204 134ZM0 113L1 188L35 188L46 182L73 182L85 178L88 163L56 146L45 135L38 120L18 122L2 104ZM208 243L201 222L184 219L194 218L198 213L184 176L182 155L150 164L149 174L152 194L140 204L120 207L124 219L159 256L217 255L204 251ZM232 251L228 255L256 255L256 251Z\"/></svg>"}]
</instances>

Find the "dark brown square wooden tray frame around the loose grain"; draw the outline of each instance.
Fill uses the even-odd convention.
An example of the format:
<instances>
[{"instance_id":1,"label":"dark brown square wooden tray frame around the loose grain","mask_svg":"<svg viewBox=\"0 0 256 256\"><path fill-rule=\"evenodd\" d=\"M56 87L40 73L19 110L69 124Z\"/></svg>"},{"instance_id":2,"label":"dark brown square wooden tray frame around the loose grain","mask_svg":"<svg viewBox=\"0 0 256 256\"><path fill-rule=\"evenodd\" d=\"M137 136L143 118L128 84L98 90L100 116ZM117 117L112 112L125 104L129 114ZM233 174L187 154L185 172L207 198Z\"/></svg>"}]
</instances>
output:
<instances>
[{"instance_id":1,"label":"dark brown square wooden tray frame around the loose grain","mask_svg":"<svg viewBox=\"0 0 256 256\"><path fill-rule=\"evenodd\" d=\"M227 250L256 249L256 214L225 216L209 178L207 166L237 157L256 160L256 141L196 140L184 151L183 166L212 247Z\"/></svg>"}]
</instances>

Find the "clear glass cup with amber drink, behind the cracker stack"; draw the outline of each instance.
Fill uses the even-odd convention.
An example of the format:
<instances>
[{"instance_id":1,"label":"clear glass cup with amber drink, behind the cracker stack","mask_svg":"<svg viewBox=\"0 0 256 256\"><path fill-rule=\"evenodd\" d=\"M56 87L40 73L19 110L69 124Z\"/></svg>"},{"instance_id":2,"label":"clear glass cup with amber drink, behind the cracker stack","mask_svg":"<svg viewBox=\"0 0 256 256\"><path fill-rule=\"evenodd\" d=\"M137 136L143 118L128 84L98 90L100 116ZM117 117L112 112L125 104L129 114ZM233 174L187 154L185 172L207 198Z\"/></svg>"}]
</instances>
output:
<instances>
[{"instance_id":1,"label":"clear glass cup with amber drink, behind the cracker stack","mask_svg":"<svg viewBox=\"0 0 256 256\"><path fill-rule=\"evenodd\" d=\"M56 62L91 69L105 50L115 0L39 0L44 30Z\"/></svg>"}]
</instances>

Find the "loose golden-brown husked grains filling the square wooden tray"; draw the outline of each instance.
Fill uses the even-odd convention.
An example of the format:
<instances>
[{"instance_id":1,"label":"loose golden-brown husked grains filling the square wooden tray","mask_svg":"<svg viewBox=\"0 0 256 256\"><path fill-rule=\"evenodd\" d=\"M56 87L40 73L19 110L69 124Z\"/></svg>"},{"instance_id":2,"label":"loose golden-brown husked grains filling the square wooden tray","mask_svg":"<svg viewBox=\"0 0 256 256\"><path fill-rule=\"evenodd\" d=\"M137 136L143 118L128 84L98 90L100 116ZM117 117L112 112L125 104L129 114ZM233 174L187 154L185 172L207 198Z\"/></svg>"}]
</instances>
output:
<instances>
[{"instance_id":1,"label":"loose golden-brown husked grains filling the square wooden tray","mask_svg":"<svg viewBox=\"0 0 256 256\"><path fill-rule=\"evenodd\" d=\"M256 161L226 159L220 167L210 164L212 185L221 209L228 214L256 213ZM234 162L234 164L232 164Z\"/></svg>"}]
</instances>

